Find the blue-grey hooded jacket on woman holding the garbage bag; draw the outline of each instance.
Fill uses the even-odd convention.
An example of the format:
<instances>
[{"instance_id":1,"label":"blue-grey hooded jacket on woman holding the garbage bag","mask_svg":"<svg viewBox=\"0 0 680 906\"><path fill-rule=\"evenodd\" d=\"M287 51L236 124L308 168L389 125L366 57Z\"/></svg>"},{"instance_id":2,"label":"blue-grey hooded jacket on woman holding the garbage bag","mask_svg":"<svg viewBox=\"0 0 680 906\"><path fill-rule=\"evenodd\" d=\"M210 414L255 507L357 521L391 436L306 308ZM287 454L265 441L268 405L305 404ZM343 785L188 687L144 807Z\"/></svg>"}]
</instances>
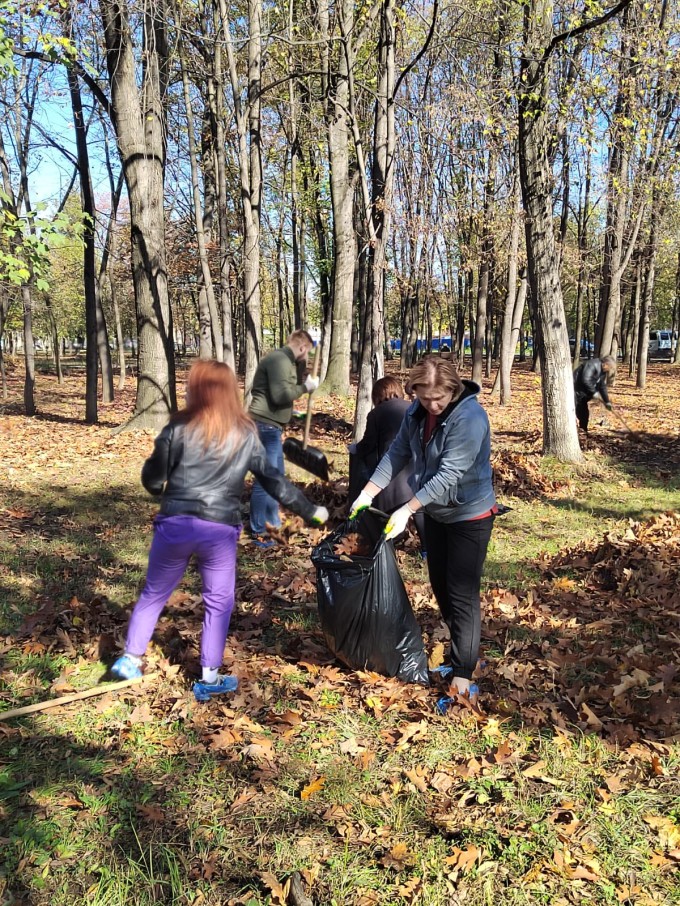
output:
<instances>
[{"instance_id":1,"label":"blue-grey hooded jacket on woman holding the garbage bag","mask_svg":"<svg viewBox=\"0 0 680 906\"><path fill-rule=\"evenodd\" d=\"M393 475L412 461L409 483L428 516L437 522L463 522L496 503L491 471L491 429L477 394L463 381L461 396L439 416L427 445L423 443L427 411L416 400L371 480L386 487Z\"/></svg>"}]
</instances>

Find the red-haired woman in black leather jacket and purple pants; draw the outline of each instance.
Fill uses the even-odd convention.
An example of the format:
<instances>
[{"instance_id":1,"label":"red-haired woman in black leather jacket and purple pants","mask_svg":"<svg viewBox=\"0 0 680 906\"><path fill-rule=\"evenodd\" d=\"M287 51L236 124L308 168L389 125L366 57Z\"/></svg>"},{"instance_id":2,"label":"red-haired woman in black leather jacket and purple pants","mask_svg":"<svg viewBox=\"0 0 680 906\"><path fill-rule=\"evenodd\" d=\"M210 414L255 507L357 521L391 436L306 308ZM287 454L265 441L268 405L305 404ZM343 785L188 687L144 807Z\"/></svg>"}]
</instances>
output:
<instances>
[{"instance_id":1,"label":"red-haired woman in black leather jacket and purple pants","mask_svg":"<svg viewBox=\"0 0 680 906\"><path fill-rule=\"evenodd\" d=\"M201 360L189 373L186 407L156 438L142 468L142 484L160 496L154 520L146 584L132 611L125 652L111 668L119 679L142 675L142 658L168 598L196 556L205 607L201 635L199 701L233 691L238 681L220 676L234 608L236 543L241 532L241 494L252 472L283 506L322 525L316 507L268 465L255 425L241 405L234 372Z\"/></svg>"}]
</instances>

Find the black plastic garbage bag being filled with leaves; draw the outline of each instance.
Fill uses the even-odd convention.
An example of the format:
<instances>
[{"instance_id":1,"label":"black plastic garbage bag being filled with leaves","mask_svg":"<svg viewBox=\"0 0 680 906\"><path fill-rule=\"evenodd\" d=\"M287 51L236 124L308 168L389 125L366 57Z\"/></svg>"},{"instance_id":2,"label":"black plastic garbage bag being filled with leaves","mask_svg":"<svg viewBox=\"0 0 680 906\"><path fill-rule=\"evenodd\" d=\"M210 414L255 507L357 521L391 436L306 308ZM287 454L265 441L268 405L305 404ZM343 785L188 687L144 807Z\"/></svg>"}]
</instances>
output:
<instances>
[{"instance_id":1,"label":"black plastic garbage bag being filled with leaves","mask_svg":"<svg viewBox=\"0 0 680 906\"><path fill-rule=\"evenodd\" d=\"M373 670L407 683L429 685L420 626L391 541L383 529L389 517L379 510L346 521L312 550L319 619L333 654L354 670ZM335 545L357 532L371 551L339 555Z\"/></svg>"}]
</instances>

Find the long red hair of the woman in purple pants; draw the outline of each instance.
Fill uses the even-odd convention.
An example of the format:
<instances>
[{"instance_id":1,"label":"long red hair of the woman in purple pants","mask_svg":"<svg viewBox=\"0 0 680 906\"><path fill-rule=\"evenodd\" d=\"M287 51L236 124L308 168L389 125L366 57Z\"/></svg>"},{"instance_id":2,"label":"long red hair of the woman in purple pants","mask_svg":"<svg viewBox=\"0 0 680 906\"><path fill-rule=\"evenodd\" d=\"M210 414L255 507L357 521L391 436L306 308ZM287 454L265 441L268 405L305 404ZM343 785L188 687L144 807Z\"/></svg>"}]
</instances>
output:
<instances>
[{"instance_id":1,"label":"long red hair of the woman in purple pants","mask_svg":"<svg viewBox=\"0 0 680 906\"><path fill-rule=\"evenodd\" d=\"M173 418L192 433L200 433L205 446L241 440L255 424L243 408L236 375L223 362L199 359L191 366L187 404Z\"/></svg>"}]
</instances>

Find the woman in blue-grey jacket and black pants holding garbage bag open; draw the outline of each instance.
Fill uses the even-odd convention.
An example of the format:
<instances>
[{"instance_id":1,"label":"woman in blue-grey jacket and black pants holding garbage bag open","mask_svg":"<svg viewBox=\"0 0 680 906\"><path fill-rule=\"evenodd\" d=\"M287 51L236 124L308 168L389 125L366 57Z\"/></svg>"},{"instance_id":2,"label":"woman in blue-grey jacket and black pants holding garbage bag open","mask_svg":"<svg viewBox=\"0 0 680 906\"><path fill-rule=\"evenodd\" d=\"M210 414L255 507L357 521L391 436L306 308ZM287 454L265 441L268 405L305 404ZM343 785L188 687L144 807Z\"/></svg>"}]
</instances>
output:
<instances>
[{"instance_id":1,"label":"woman in blue-grey jacket and black pants holding garbage bag open","mask_svg":"<svg viewBox=\"0 0 680 906\"><path fill-rule=\"evenodd\" d=\"M409 387L416 399L350 516L370 506L392 477L413 463L413 496L392 514L386 534L401 534L410 517L424 511L430 582L451 633L451 691L473 697L482 568L498 512L489 419L477 399L479 386L462 380L447 359L419 362Z\"/></svg>"}]
</instances>

